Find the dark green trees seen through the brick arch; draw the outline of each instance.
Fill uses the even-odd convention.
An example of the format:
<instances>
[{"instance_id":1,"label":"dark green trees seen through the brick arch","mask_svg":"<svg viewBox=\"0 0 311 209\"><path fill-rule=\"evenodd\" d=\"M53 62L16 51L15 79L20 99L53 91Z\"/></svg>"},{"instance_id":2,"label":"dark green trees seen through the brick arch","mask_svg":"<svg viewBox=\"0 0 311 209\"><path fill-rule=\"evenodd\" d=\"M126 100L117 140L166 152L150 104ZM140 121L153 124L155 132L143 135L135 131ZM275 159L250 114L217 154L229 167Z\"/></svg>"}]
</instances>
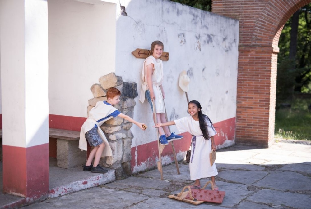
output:
<instances>
[{"instance_id":1,"label":"dark green trees seen through the brick arch","mask_svg":"<svg viewBox=\"0 0 311 209\"><path fill-rule=\"evenodd\" d=\"M286 22L279 39L279 48L277 76L282 77L281 73L295 74L290 82L293 88L291 92L311 93L311 4L300 8ZM293 60L295 65L285 70L284 65L290 63L289 60ZM287 92L286 82L286 79L277 80L277 93Z\"/></svg>"}]
</instances>

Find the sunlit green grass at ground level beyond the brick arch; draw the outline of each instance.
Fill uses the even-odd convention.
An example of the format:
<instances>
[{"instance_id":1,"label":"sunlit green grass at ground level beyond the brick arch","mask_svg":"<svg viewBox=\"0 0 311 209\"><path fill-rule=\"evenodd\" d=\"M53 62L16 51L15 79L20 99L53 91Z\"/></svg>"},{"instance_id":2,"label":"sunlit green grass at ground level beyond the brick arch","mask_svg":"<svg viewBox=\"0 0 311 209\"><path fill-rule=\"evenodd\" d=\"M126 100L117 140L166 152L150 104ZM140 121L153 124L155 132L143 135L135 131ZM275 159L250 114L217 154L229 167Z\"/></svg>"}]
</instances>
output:
<instances>
[{"instance_id":1,"label":"sunlit green grass at ground level beyond the brick arch","mask_svg":"<svg viewBox=\"0 0 311 209\"><path fill-rule=\"evenodd\" d=\"M311 99L295 99L291 109L278 109L275 114L275 137L311 140Z\"/></svg>"}]
</instances>

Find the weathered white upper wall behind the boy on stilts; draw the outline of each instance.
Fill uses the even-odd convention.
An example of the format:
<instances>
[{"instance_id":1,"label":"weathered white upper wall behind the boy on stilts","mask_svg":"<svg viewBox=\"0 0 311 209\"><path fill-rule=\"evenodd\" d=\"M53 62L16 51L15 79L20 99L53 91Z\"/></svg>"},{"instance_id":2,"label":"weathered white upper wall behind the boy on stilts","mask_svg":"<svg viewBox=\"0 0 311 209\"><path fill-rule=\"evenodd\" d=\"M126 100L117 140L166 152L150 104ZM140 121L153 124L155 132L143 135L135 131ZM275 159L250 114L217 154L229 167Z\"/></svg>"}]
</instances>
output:
<instances>
[{"instance_id":1,"label":"weathered white upper wall behind the boy on stilts","mask_svg":"<svg viewBox=\"0 0 311 209\"><path fill-rule=\"evenodd\" d=\"M171 1L124 0L127 16L117 15L116 74L124 81L142 84L143 59L131 52L150 49L160 40L169 61L163 61L165 105L168 120L187 115L185 92L178 86L179 74L190 77L189 100L198 100L213 123L236 115L239 22ZM119 6L117 8L119 8ZM119 11L119 10L117 10ZM125 32L126 31L126 32ZM148 129L132 127L132 147L156 140L152 112L147 102L135 98L134 119L146 122ZM175 126L171 131L178 133Z\"/></svg>"}]
</instances>

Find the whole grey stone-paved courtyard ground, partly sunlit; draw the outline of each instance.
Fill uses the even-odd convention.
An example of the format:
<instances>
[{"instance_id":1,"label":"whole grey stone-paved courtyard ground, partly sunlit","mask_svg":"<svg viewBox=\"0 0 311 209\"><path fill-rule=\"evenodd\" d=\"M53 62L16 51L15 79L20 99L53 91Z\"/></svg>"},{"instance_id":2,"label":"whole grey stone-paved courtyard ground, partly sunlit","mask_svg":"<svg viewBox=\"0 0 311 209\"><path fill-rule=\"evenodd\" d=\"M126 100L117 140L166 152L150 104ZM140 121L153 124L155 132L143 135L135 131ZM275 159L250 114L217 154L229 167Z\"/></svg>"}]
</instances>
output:
<instances>
[{"instance_id":1,"label":"whole grey stone-paved courtyard ground, partly sunlit","mask_svg":"<svg viewBox=\"0 0 311 209\"><path fill-rule=\"evenodd\" d=\"M232 146L219 150L216 184L220 191L226 192L221 204L206 202L193 205L168 198L168 195L179 193L185 185L193 183L188 164L180 162L180 175L177 174L174 163L163 166L163 181L160 180L160 172L154 169L99 187L47 199L26 208L310 208L311 146L289 145L277 143L268 149ZM292 154L285 156L286 153ZM234 158L235 155L238 160ZM256 158L258 156L260 158ZM266 158L262 158L263 156ZM299 163L293 163L293 159ZM210 178L201 179L201 185L204 186L209 180ZM207 189L211 189L211 185Z\"/></svg>"}]
</instances>

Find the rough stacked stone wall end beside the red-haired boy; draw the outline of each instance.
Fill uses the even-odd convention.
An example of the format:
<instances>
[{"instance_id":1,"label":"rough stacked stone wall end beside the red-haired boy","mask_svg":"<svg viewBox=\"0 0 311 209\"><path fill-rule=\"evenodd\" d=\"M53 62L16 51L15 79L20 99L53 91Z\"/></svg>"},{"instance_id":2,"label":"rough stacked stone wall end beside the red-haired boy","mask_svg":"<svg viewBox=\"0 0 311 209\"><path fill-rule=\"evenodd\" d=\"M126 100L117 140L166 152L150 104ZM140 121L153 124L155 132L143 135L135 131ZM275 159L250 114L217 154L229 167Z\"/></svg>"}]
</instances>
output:
<instances>
[{"instance_id":1,"label":"rough stacked stone wall end beside the red-haired boy","mask_svg":"<svg viewBox=\"0 0 311 209\"><path fill-rule=\"evenodd\" d=\"M106 101L106 92L110 87L115 87L121 91L120 102L114 105L121 113L133 118L135 97L138 96L137 84L123 82L122 77L115 73L99 78L99 84L95 83L91 87L94 98L89 100L87 112L96 105L98 101ZM133 134L130 130L132 123L120 117L111 118L100 128L104 131L109 145L112 149L113 157L105 157L100 160L100 165L115 169L116 179L121 179L132 174L131 170L131 144Z\"/></svg>"}]
</instances>

